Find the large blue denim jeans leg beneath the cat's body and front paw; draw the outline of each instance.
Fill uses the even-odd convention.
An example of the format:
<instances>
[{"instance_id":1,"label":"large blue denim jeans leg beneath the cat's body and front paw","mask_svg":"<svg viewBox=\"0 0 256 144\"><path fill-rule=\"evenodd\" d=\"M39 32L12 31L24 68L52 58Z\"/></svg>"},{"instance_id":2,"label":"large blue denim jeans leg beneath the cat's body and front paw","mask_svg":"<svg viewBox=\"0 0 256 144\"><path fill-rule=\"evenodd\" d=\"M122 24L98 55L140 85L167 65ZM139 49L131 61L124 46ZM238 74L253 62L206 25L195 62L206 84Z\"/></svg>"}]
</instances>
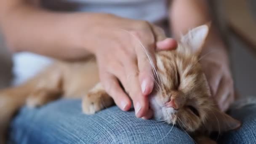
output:
<instances>
[{"instance_id":1,"label":"large blue denim jeans leg beneath the cat's body and front paw","mask_svg":"<svg viewBox=\"0 0 256 144\"><path fill-rule=\"evenodd\" d=\"M96 115L77 114L79 103L62 100L42 109L24 108L14 120L12 131L27 131L22 127L26 124L30 129L22 136L29 140L40 136L39 141L42 139L48 143L62 137L61 142L66 143L194 144L187 133L173 125L136 118L134 112L123 112L118 107L105 109ZM40 126L40 131L37 131L37 126ZM19 135L12 138L18 140Z\"/></svg>"}]
</instances>

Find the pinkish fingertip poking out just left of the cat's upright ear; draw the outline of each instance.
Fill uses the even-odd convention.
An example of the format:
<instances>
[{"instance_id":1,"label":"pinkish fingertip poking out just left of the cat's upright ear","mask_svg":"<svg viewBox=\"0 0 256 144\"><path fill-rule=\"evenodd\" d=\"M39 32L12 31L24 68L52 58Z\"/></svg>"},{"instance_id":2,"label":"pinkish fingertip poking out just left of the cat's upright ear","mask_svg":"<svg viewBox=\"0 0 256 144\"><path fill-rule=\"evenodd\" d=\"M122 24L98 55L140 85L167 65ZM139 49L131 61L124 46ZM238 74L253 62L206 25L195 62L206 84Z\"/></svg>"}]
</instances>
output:
<instances>
[{"instance_id":1,"label":"pinkish fingertip poking out just left of the cat's upright ear","mask_svg":"<svg viewBox=\"0 0 256 144\"><path fill-rule=\"evenodd\" d=\"M173 50L177 47L177 42L176 40L172 39L172 38L166 38L165 40L162 41L158 41L156 43L156 49L158 51L160 50Z\"/></svg>"}]
</instances>

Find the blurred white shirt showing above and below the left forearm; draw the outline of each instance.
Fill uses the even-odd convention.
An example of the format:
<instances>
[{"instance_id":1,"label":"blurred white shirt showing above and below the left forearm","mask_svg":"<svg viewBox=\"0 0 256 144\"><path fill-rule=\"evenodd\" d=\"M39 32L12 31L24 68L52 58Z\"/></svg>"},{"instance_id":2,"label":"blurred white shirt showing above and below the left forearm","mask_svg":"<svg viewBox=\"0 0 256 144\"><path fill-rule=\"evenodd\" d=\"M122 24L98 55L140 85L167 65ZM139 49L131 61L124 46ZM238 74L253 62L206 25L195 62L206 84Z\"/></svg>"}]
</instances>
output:
<instances>
[{"instance_id":1,"label":"blurred white shirt showing above and below the left forearm","mask_svg":"<svg viewBox=\"0 0 256 144\"><path fill-rule=\"evenodd\" d=\"M58 8L64 3L79 3L76 11L113 13L131 19L147 20L152 23L161 21L167 16L166 0L42 0L44 6ZM58 3L56 3L58 2ZM104 22L104 20L102 21ZM13 85L23 83L40 70L51 64L51 59L23 52L13 56Z\"/></svg>"}]
</instances>

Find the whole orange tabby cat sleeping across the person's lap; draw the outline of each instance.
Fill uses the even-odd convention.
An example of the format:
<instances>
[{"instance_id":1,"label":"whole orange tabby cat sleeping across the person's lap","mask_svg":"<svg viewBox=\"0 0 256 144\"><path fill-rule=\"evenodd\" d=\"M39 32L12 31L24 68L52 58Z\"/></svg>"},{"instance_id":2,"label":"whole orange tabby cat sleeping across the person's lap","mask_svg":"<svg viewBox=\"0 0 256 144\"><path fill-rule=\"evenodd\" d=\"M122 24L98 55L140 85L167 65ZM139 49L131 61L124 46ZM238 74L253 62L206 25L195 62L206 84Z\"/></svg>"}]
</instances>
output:
<instances>
[{"instance_id":1,"label":"whole orange tabby cat sleeping across the person's lap","mask_svg":"<svg viewBox=\"0 0 256 144\"><path fill-rule=\"evenodd\" d=\"M153 67L156 83L149 96L155 119L177 125L197 143L214 143L208 138L211 132L240 126L239 121L221 112L210 98L198 62L208 31L208 25L196 27L181 37L175 51L156 53L157 64ZM11 117L24 104L39 107L61 97L75 97L82 98L85 114L110 107L114 101L99 83L96 73L95 59L56 61L26 83L0 91L0 134L3 136Z\"/></svg>"}]
</instances>

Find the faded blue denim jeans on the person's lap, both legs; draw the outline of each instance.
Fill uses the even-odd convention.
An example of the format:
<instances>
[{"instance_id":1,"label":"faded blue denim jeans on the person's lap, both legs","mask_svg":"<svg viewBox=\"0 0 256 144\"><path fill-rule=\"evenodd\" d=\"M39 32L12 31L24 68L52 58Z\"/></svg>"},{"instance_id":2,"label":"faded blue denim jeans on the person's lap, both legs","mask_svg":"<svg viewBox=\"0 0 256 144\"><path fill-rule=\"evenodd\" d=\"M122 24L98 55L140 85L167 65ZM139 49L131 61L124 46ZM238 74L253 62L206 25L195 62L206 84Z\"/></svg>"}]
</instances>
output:
<instances>
[{"instance_id":1,"label":"faded blue denim jeans on the person's lap, both legs","mask_svg":"<svg viewBox=\"0 0 256 144\"><path fill-rule=\"evenodd\" d=\"M10 143L19 144L193 144L172 125L142 120L115 107L84 115L79 100L59 100L39 109L24 107L10 127ZM243 121L238 131L219 138L224 144L256 143L256 106L231 114Z\"/></svg>"}]
</instances>

